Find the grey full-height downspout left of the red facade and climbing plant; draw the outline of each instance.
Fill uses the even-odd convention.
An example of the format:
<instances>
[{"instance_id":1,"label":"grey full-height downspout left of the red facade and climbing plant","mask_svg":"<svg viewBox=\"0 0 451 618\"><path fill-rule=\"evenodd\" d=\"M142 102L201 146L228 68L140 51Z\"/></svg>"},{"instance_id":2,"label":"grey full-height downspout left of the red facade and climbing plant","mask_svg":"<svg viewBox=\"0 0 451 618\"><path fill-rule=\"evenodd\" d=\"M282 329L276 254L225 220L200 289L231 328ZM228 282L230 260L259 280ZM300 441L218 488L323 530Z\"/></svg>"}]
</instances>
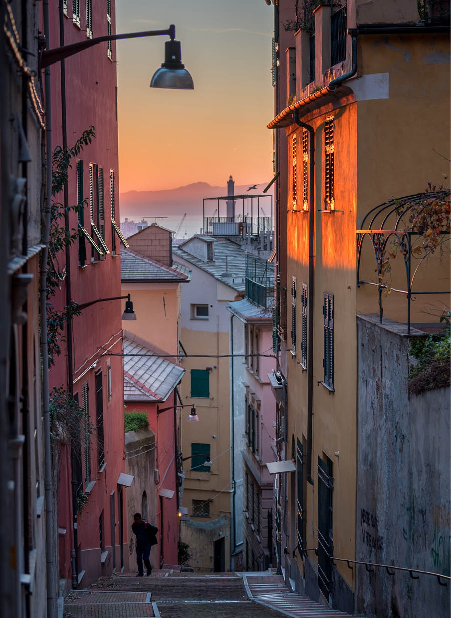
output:
<instances>
[{"instance_id":1,"label":"grey full-height downspout left of the red facade and climbing plant","mask_svg":"<svg viewBox=\"0 0 451 618\"><path fill-rule=\"evenodd\" d=\"M49 33L49 0L43 0L43 22L46 37L46 47L50 49ZM53 536L53 504L52 504L52 452L50 440L50 411L49 411L49 350L47 331L47 261L49 255L50 216L52 199L52 104L50 67L44 70L45 104L46 104L46 151L47 151L47 197L44 208L44 234L40 274L41 297L41 350L42 350L42 399L44 417L44 488L46 506L46 561L47 561L47 616L56 618L56 591L54 578L54 536Z\"/></svg>"}]
</instances>

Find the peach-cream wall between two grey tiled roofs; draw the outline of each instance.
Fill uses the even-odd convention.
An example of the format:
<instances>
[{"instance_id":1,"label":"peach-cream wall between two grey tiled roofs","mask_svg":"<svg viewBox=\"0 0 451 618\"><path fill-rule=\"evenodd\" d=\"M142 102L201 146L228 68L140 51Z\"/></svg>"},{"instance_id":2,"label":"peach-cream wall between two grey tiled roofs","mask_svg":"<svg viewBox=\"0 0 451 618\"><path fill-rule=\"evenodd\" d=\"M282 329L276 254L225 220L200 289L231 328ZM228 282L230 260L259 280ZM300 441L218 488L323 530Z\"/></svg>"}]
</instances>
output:
<instances>
[{"instance_id":1,"label":"peach-cream wall between two grey tiled roofs","mask_svg":"<svg viewBox=\"0 0 451 618\"><path fill-rule=\"evenodd\" d=\"M123 282L122 295L125 294L132 298L137 319L122 322L122 328L163 352L177 355L180 284Z\"/></svg>"}]
</instances>

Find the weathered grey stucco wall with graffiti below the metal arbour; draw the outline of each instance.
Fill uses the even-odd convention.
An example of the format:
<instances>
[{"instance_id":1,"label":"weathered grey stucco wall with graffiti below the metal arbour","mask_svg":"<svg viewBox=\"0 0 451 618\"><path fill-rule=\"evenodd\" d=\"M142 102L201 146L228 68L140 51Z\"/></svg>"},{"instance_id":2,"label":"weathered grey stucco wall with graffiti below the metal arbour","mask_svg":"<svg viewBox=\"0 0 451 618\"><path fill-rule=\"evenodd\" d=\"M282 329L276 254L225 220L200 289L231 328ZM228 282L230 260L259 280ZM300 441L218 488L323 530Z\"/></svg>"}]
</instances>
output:
<instances>
[{"instance_id":1,"label":"weathered grey stucco wall with graffiti below the metal arbour","mask_svg":"<svg viewBox=\"0 0 451 618\"><path fill-rule=\"evenodd\" d=\"M381 326L376 316L358 316L357 332L356 560L449 575L450 389L408 395L411 337L403 324ZM357 568L358 611L387 618L450 615L449 583Z\"/></svg>"}]
</instances>

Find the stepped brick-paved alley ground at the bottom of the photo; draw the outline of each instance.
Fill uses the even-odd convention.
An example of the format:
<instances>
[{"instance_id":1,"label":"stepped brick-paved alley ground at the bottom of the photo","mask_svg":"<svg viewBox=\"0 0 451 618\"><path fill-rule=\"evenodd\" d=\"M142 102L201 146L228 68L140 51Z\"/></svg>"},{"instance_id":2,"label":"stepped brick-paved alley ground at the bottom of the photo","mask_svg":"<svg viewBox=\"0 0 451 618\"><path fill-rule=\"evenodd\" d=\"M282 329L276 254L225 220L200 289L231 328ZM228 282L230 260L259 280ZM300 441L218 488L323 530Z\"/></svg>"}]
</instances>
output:
<instances>
[{"instance_id":1,"label":"stepped brick-paved alley ground at the bottom of the photo","mask_svg":"<svg viewBox=\"0 0 451 618\"><path fill-rule=\"evenodd\" d=\"M150 577L101 577L87 590L71 590L64 618L329 618L349 616L292 592L275 572L198 575L175 569ZM349 618L352 618L350 616Z\"/></svg>"}]
</instances>

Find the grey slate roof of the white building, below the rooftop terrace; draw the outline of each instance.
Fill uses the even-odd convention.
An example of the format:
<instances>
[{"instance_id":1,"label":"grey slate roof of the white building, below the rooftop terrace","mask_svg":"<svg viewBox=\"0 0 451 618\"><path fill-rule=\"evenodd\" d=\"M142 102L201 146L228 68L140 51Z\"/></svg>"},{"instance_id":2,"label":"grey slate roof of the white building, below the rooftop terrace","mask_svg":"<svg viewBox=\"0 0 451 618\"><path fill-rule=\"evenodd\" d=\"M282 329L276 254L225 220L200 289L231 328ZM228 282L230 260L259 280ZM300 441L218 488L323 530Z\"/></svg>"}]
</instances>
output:
<instances>
[{"instance_id":1,"label":"grey slate roof of the white building, below the rooftop terrace","mask_svg":"<svg viewBox=\"0 0 451 618\"><path fill-rule=\"evenodd\" d=\"M210 237L208 237L210 238ZM191 253L188 253L183 248L172 247L174 255L177 255L183 260L187 260L198 268L211 274L215 279L221 281L226 286L232 287L237 292L244 292L245 277L246 277L246 253L240 245L228 239L214 239L214 261L203 262L196 258ZM227 272L232 276L224 277L225 273L225 257L227 256Z\"/></svg>"}]
</instances>

